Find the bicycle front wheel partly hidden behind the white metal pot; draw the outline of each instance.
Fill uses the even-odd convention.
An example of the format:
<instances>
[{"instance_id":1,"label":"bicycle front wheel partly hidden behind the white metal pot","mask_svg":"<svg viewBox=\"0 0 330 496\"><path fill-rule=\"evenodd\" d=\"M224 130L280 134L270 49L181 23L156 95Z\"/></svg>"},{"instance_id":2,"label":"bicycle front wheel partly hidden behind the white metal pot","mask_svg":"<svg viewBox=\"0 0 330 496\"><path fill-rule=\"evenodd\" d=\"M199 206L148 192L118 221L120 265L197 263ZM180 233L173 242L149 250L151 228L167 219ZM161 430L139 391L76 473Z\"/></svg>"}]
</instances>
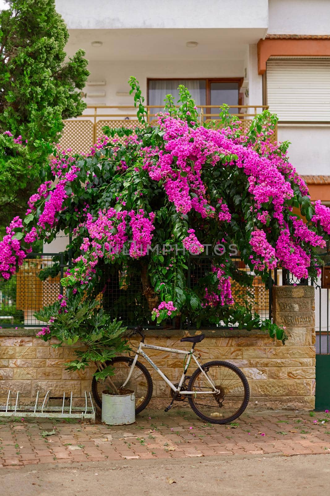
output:
<instances>
[{"instance_id":1,"label":"bicycle front wheel partly hidden behind the white metal pot","mask_svg":"<svg viewBox=\"0 0 330 496\"><path fill-rule=\"evenodd\" d=\"M114 375L111 375L111 380L119 389L128 377L133 364L133 358L116 357L113 360L106 362L105 366L112 365ZM96 405L102 408L102 391L106 388L106 382L103 380L92 380L92 393ZM143 364L137 362L133 369L130 380L125 386L125 389L131 389L135 392L135 413L138 414L149 403L152 396L152 379L150 373Z\"/></svg>"}]
</instances>

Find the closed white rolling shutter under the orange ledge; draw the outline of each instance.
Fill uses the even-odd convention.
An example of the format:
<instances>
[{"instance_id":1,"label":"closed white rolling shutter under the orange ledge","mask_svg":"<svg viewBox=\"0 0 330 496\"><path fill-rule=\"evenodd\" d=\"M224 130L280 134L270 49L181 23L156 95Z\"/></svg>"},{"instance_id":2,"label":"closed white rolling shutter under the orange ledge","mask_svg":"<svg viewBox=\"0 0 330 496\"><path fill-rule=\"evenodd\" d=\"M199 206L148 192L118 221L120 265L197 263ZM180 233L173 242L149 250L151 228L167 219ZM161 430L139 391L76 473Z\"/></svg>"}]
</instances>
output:
<instances>
[{"instance_id":1,"label":"closed white rolling shutter under the orange ledge","mask_svg":"<svg viewBox=\"0 0 330 496\"><path fill-rule=\"evenodd\" d=\"M270 59L267 105L280 121L330 121L330 59Z\"/></svg>"}]
</instances>

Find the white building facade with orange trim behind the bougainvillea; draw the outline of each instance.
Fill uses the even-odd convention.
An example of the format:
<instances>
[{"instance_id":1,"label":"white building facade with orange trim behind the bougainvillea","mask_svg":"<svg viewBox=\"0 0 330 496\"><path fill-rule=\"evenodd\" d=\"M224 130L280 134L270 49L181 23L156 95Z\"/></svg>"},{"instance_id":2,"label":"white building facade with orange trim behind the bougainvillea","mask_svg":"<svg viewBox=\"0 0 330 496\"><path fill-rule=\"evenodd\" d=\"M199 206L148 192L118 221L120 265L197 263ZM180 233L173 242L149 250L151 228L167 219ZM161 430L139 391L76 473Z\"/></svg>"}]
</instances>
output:
<instances>
[{"instance_id":1,"label":"white building facade with orange trim behind the bougainvillea","mask_svg":"<svg viewBox=\"0 0 330 496\"><path fill-rule=\"evenodd\" d=\"M85 120L133 119L123 108L133 104L131 75L159 108L180 83L201 106L252 106L233 109L248 115L269 106L312 199L330 202L330 1L56 0L56 8L68 55L83 48L89 60Z\"/></svg>"}]
</instances>

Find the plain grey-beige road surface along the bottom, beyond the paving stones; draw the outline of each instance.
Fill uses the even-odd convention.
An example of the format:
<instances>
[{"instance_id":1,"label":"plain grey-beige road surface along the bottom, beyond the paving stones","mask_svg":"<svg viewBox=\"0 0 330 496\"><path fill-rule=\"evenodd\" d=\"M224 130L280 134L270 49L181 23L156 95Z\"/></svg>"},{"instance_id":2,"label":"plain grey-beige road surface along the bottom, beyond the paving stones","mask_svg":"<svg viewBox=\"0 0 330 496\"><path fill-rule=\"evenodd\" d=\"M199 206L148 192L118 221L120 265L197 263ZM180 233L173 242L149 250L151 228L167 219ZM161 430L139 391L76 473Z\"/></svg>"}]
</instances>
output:
<instances>
[{"instance_id":1,"label":"plain grey-beige road surface along the bottom, beyond the paving stones","mask_svg":"<svg viewBox=\"0 0 330 496\"><path fill-rule=\"evenodd\" d=\"M330 455L41 464L0 471L1 496L319 496L329 494L329 487Z\"/></svg>"}]
</instances>

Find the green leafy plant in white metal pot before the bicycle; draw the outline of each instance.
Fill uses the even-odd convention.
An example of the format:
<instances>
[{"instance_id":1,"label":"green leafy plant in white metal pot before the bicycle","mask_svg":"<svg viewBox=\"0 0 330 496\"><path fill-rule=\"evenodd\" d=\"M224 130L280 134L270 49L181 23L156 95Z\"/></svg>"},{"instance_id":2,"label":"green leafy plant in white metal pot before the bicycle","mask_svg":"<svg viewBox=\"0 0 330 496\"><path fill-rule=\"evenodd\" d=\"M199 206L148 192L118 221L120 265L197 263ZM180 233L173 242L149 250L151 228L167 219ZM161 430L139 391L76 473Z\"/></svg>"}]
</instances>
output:
<instances>
[{"instance_id":1,"label":"green leafy plant in white metal pot before the bicycle","mask_svg":"<svg viewBox=\"0 0 330 496\"><path fill-rule=\"evenodd\" d=\"M52 344L58 348L63 344L75 345L78 341L82 348L76 349L77 358L68 362L66 370L84 370L93 363L96 380L103 380L106 389L102 391L102 422L111 425L132 424L135 422L134 391L117 388L112 380L114 367L109 364L118 353L129 351L124 339L126 327L121 322L112 320L110 315L99 308L99 302L82 302L80 296L58 295L53 305L35 313L35 316L47 322L37 333L44 341L56 338Z\"/></svg>"}]
</instances>

